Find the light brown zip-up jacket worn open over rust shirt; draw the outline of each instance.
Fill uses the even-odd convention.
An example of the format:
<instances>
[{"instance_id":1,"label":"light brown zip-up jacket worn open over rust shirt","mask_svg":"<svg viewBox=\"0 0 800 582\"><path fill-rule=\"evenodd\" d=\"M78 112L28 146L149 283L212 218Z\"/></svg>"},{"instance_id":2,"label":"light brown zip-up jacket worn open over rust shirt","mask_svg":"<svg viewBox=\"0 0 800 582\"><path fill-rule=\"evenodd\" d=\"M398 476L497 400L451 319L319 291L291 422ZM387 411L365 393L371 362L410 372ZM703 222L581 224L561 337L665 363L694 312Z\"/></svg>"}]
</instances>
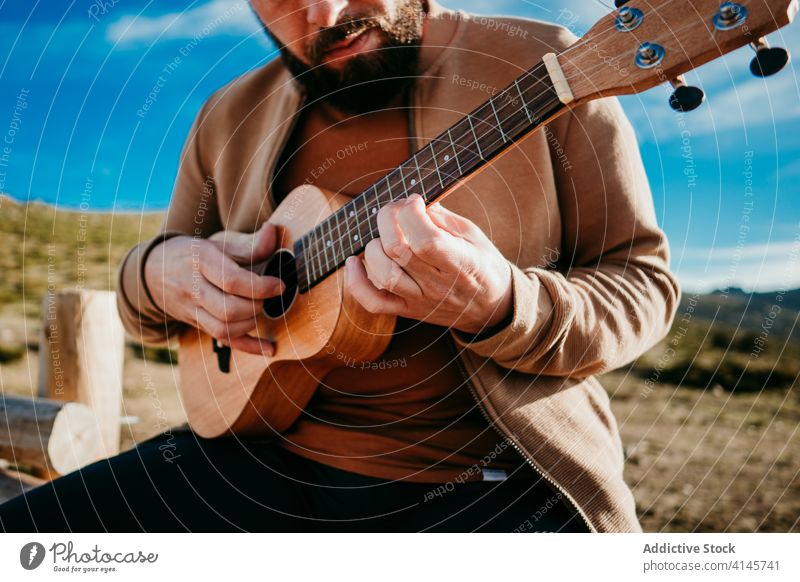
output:
<instances>
[{"instance_id":1,"label":"light brown zip-up jacket worn open over rust shirt","mask_svg":"<svg viewBox=\"0 0 800 582\"><path fill-rule=\"evenodd\" d=\"M458 24L412 90L409 122L418 148L544 53L575 40L553 24L470 16L435 2L430 16ZM155 245L179 234L253 232L269 218L271 177L302 102L276 60L204 104L160 234L133 247L118 271L119 311L135 339L164 343L186 325L165 318L144 284L144 261ZM561 115L442 204L478 224L511 265L511 322L475 341L450 331L487 419L591 530L641 531L623 480L617 424L595 375L664 337L680 291L617 101Z\"/></svg>"}]
</instances>

